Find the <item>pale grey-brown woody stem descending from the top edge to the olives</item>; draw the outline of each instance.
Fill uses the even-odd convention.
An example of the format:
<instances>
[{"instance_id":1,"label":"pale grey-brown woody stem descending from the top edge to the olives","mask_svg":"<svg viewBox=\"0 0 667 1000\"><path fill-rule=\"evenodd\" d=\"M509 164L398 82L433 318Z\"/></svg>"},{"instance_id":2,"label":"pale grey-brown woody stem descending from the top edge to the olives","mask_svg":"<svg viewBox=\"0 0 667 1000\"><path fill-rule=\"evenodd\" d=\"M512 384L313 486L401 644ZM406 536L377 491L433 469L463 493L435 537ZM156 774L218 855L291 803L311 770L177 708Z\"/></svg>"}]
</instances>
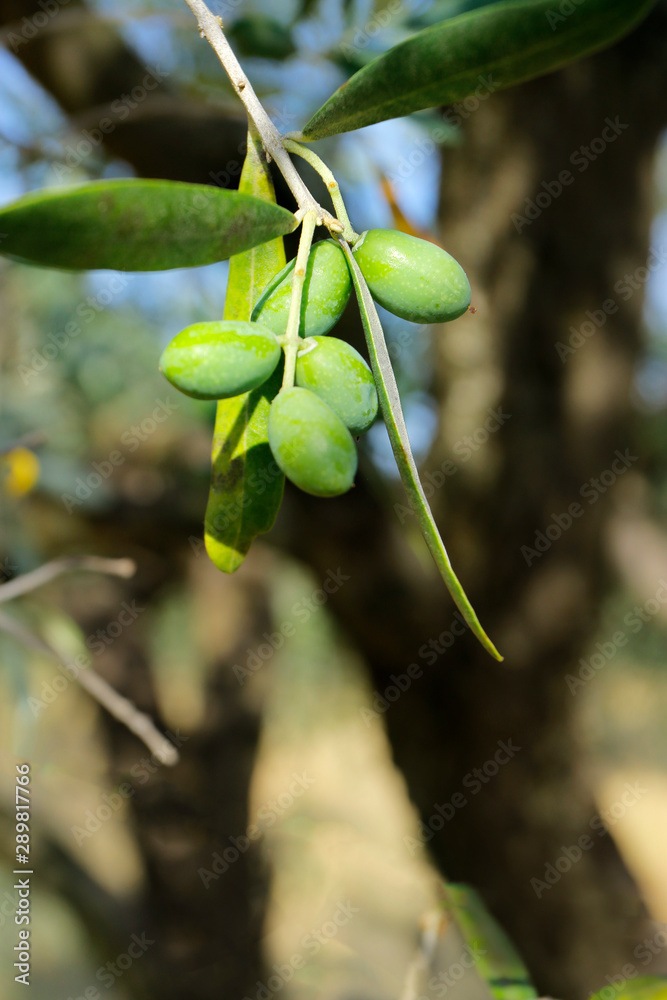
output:
<instances>
[{"instance_id":1,"label":"pale grey-brown woody stem descending from the top edge to the olives","mask_svg":"<svg viewBox=\"0 0 667 1000\"><path fill-rule=\"evenodd\" d=\"M197 18L202 38L205 38L211 45L230 79L232 87L243 102L248 117L259 133L267 157L275 160L276 166L287 181L290 191L296 198L299 210L303 213L315 212L317 225L325 225L332 232L341 232L341 223L317 203L292 163L283 145L280 132L264 110L250 80L243 72L225 37L222 30L222 18L212 14L204 0L185 0L185 2Z\"/></svg>"}]
</instances>

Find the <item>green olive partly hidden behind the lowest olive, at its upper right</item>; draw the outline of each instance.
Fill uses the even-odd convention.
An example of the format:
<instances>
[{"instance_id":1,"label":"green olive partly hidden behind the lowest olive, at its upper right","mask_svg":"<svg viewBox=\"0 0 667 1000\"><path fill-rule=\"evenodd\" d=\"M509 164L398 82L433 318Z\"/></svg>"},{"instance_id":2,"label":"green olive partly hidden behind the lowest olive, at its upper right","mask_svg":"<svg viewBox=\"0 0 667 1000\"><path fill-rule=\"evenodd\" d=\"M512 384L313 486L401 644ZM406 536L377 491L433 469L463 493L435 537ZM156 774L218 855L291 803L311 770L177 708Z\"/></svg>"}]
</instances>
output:
<instances>
[{"instance_id":1,"label":"green olive partly hidden behind the lowest olive, at its upper right","mask_svg":"<svg viewBox=\"0 0 667 1000\"><path fill-rule=\"evenodd\" d=\"M351 434L363 434L377 416L370 368L354 347L337 337L304 341L296 359L296 384L323 399Z\"/></svg>"}]
</instances>

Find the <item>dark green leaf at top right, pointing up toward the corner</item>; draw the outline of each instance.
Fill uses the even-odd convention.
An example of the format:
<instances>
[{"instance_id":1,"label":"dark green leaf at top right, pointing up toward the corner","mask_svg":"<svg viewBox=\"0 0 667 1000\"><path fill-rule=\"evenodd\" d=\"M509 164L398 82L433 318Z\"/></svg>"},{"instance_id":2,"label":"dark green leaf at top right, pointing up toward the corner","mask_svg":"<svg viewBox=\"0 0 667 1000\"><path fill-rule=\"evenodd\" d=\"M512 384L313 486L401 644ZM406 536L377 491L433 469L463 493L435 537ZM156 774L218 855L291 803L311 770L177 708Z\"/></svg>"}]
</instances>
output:
<instances>
[{"instance_id":1,"label":"dark green leaf at top right, pointing up toward the corner","mask_svg":"<svg viewBox=\"0 0 667 1000\"><path fill-rule=\"evenodd\" d=\"M312 141L543 76L615 42L655 0L494 3L420 31L352 76L303 130Z\"/></svg>"}]
</instances>

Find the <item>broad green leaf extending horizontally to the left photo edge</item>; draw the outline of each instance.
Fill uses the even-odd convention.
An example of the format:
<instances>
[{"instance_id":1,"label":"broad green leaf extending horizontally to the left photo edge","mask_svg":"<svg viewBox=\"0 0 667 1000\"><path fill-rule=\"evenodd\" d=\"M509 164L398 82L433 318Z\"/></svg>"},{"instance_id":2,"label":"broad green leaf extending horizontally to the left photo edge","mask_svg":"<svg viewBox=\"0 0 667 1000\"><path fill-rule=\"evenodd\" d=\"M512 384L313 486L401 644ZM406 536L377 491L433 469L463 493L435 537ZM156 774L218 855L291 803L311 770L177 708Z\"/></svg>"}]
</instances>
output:
<instances>
[{"instance_id":1,"label":"broad green leaf extending horizontally to the left photo edge","mask_svg":"<svg viewBox=\"0 0 667 1000\"><path fill-rule=\"evenodd\" d=\"M94 181L0 209L0 253L69 270L164 271L226 260L294 228L249 193L178 181Z\"/></svg>"}]
</instances>

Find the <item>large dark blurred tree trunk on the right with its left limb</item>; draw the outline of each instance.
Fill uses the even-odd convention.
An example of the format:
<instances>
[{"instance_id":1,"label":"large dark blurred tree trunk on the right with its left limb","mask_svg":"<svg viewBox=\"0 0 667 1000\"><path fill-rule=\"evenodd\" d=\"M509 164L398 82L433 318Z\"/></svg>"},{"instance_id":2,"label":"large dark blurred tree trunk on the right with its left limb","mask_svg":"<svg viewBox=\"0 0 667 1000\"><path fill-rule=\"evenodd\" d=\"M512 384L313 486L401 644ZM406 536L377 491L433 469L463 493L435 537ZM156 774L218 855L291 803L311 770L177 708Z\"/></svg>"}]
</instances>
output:
<instances>
[{"instance_id":1,"label":"large dark blurred tree trunk on the right with its left limb","mask_svg":"<svg viewBox=\"0 0 667 1000\"><path fill-rule=\"evenodd\" d=\"M442 239L468 270L478 311L435 331L440 422L424 472L446 473L432 500L436 518L505 662L451 634L443 588L428 574L416 580L397 540L393 495L383 519L367 510L361 489L333 519L318 517L319 508L302 512L291 539L319 572L335 559L350 575L332 603L378 692L411 662L423 668L383 714L428 849L448 878L481 891L538 989L557 997L600 988L648 932L637 888L597 825L566 675L577 674L613 584L605 547L612 490L581 489L617 453L629 449L630 468L638 456L630 388L643 295L626 298L614 286L649 255L651 167L667 123L655 100L665 85L666 28L661 7L610 52L480 102L464 122L465 142L444 156ZM591 149L609 121L613 140ZM562 183L564 170L571 182ZM514 214L525 221L515 225ZM556 345L569 345L587 310L610 300L604 324L575 338L583 346L563 360ZM580 513L568 526L573 503ZM536 532L549 525L557 527L547 551L534 551ZM428 644L438 636L431 666ZM498 767L508 756L496 757L501 741L521 749ZM442 828L436 806L449 815L457 793L466 804ZM581 843L580 860L556 871L553 886L545 882L547 865L564 847L577 857Z\"/></svg>"}]
</instances>

